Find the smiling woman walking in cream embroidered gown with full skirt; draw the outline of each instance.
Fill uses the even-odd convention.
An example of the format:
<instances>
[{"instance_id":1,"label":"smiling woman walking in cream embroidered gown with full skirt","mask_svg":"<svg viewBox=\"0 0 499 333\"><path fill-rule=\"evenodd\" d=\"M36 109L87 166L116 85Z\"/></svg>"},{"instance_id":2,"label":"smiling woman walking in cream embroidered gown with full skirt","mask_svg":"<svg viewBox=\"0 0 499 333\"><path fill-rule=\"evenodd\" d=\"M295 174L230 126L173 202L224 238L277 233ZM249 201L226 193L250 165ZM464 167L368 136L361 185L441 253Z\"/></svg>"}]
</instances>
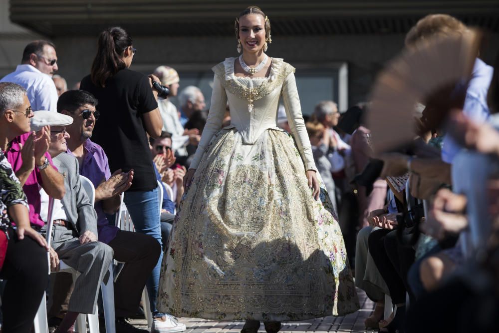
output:
<instances>
[{"instance_id":1,"label":"smiling woman walking in cream embroidered gown with full skirt","mask_svg":"<svg viewBox=\"0 0 499 333\"><path fill-rule=\"evenodd\" d=\"M242 332L256 332L259 321L277 332L280 321L355 312L343 237L316 172L294 68L265 55L270 23L259 8L244 10L235 27L243 55L213 67L208 120L163 259L159 309L245 319ZM281 96L292 136L276 126ZM231 125L221 128L227 101Z\"/></svg>"}]
</instances>

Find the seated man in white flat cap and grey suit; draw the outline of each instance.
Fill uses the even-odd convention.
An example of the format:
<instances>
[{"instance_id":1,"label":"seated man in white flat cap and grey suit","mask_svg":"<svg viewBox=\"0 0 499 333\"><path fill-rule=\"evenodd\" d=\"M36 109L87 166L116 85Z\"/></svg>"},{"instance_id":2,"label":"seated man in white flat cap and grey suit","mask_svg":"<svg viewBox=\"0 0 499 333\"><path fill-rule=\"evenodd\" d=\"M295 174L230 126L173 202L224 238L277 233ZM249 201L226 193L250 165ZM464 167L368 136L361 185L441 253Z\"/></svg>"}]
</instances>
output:
<instances>
[{"instance_id":1,"label":"seated man in white flat cap and grey suit","mask_svg":"<svg viewBox=\"0 0 499 333\"><path fill-rule=\"evenodd\" d=\"M100 284L113 259L113 250L97 241L97 216L81 186L78 162L65 153L68 134L63 125L71 122L71 117L51 111L38 111L31 121L31 128L52 125L49 128L48 152L64 177L66 189L61 200L54 200L51 268L56 269L60 259L80 273L74 284L67 314L55 331L57 333L70 330L78 314L95 313ZM48 221L49 197L43 188L40 189L40 198L40 217ZM42 233L46 231L44 226Z\"/></svg>"}]
</instances>

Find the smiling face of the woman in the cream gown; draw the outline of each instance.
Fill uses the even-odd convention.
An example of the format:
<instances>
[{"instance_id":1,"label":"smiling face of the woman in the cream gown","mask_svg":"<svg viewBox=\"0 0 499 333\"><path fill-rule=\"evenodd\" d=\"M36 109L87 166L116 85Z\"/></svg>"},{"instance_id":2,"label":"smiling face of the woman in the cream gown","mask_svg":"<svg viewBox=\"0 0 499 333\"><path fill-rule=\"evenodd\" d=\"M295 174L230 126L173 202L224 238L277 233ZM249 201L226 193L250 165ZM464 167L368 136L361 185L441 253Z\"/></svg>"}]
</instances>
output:
<instances>
[{"instance_id":1,"label":"smiling face of the woman in the cream gown","mask_svg":"<svg viewBox=\"0 0 499 333\"><path fill-rule=\"evenodd\" d=\"M245 51L258 52L265 43L265 17L260 14L242 16L239 19L239 38Z\"/></svg>"}]
</instances>

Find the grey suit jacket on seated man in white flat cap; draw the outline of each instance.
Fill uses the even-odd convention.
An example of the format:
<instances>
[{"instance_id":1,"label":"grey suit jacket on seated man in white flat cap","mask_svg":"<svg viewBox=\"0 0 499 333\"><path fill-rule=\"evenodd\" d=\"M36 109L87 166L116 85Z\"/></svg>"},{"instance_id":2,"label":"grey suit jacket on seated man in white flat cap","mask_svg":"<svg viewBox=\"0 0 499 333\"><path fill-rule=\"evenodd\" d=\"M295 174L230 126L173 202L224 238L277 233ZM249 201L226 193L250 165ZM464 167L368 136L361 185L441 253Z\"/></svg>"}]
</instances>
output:
<instances>
[{"instance_id":1,"label":"grey suit jacket on seated man in white flat cap","mask_svg":"<svg viewBox=\"0 0 499 333\"><path fill-rule=\"evenodd\" d=\"M97 236L97 213L81 186L78 160L68 153L61 153L52 161L64 177L66 194L61 202L68 221L79 235L89 230Z\"/></svg>"}]
</instances>

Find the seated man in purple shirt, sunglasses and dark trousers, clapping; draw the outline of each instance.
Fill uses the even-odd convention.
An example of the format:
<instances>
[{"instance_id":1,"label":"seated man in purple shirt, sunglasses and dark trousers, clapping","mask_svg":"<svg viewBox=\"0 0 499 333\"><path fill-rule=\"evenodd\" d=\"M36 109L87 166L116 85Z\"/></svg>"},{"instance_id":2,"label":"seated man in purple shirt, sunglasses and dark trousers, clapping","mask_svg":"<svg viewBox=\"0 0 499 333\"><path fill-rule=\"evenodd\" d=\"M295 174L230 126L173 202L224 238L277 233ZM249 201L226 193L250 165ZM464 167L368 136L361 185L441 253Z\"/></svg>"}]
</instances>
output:
<instances>
[{"instance_id":1,"label":"seated man in purple shirt, sunglasses and dark trousers, clapping","mask_svg":"<svg viewBox=\"0 0 499 333\"><path fill-rule=\"evenodd\" d=\"M114 214L119 208L119 195L126 191L133 178L133 171L121 170L111 174L104 150L90 140L96 120L99 117L95 97L83 90L66 91L59 97L57 111L73 118L66 130L71 137L67 141L68 153L76 157L80 174L95 186L95 210L97 212L99 240L114 250L114 259L124 262L120 275L114 284L114 305L116 332L138 332L125 322L124 318L135 315L146 280L158 262L161 247L151 236L119 230L110 223L105 213ZM153 331L182 332L183 324L177 324L170 317L165 321L155 320Z\"/></svg>"}]
</instances>

